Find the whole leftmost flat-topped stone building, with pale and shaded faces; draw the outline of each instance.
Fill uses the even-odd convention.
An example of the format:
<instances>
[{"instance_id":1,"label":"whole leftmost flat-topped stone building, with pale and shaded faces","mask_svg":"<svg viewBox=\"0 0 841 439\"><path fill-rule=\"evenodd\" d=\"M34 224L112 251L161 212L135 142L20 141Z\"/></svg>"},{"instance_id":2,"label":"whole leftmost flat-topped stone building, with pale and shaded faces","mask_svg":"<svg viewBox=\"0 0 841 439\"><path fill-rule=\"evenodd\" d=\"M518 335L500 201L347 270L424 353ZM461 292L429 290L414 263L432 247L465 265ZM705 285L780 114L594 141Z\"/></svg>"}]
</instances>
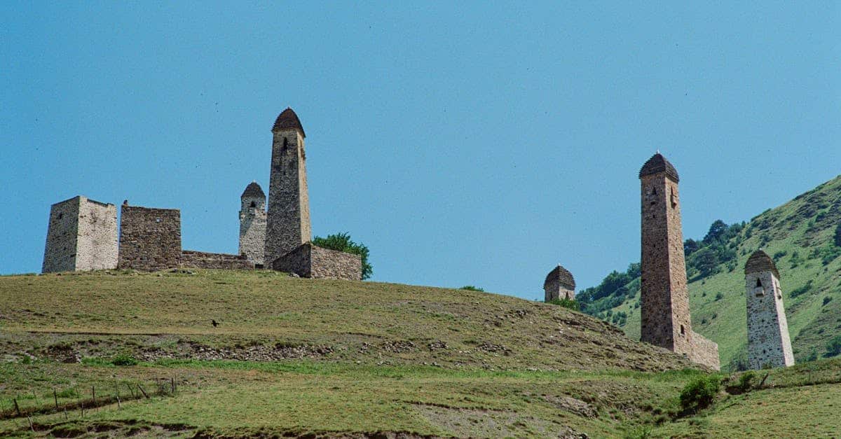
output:
<instances>
[{"instance_id":1,"label":"whole leftmost flat-topped stone building, with pale and shaded faces","mask_svg":"<svg viewBox=\"0 0 841 439\"><path fill-rule=\"evenodd\" d=\"M78 196L50 207L42 272L117 267L117 207Z\"/></svg>"}]
</instances>

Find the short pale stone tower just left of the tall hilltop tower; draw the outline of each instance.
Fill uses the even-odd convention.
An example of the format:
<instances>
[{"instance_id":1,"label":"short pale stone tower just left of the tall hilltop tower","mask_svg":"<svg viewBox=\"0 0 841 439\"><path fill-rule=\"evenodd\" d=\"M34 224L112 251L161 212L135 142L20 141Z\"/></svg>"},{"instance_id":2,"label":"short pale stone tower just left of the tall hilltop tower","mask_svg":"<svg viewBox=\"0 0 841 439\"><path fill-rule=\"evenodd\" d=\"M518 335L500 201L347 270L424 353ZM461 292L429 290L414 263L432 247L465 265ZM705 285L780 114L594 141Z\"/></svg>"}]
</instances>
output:
<instances>
[{"instance_id":1,"label":"short pale stone tower just left of the tall hilltop tower","mask_svg":"<svg viewBox=\"0 0 841 439\"><path fill-rule=\"evenodd\" d=\"M240 201L240 254L262 268L266 251L266 193L257 182L251 182Z\"/></svg>"}]
</instances>

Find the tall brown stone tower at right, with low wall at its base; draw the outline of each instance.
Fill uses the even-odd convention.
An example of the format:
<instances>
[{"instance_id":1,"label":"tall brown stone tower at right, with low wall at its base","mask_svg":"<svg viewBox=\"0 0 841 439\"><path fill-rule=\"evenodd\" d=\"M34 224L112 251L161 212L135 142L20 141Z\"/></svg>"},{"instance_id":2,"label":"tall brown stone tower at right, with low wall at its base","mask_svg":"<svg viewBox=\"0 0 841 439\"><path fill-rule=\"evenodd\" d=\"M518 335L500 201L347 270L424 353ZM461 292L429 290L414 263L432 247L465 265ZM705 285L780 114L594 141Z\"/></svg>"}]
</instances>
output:
<instances>
[{"instance_id":1,"label":"tall brown stone tower at right, with low wall at its base","mask_svg":"<svg viewBox=\"0 0 841 439\"><path fill-rule=\"evenodd\" d=\"M677 170L658 152L642 183L641 340L718 368L718 346L692 331Z\"/></svg>"}]
</instances>

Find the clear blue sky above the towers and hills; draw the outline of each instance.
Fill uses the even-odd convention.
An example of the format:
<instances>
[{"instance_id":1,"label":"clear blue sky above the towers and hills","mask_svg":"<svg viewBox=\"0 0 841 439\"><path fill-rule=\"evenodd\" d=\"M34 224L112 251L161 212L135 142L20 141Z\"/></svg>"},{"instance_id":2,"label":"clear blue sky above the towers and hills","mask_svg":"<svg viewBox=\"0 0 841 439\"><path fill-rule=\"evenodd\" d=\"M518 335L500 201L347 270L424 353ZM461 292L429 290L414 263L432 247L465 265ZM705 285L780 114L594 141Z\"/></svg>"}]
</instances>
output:
<instances>
[{"instance_id":1,"label":"clear blue sky above the towers and hills","mask_svg":"<svg viewBox=\"0 0 841 439\"><path fill-rule=\"evenodd\" d=\"M639 259L658 149L685 237L841 172L841 3L304 3L0 3L0 272L40 271L77 194L236 252L288 106L316 235L373 280L526 299Z\"/></svg>"}]
</instances>

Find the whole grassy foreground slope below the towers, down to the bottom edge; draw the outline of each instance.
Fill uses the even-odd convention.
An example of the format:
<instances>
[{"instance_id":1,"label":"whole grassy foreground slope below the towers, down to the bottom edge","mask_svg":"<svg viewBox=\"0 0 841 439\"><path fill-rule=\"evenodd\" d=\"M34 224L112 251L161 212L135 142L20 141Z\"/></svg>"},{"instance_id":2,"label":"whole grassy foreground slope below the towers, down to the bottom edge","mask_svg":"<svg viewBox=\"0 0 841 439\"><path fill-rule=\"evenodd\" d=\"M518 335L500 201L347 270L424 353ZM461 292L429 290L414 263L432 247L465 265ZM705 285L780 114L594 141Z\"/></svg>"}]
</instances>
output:
<instances>
[{"instance_id":1,"label":"whole grassy foreground slope below the towers, down to the bottom edge","mask_svg":"<svg viewBox=\"0 0 841 439\"><path fill-rule=\"evenodd\" d=\"M807 413L802 435L841 428L838 361L681 413L706 373L593 317L274 272L0 277L0 356L0 436L780 436Z\"/></svg>"}]
</instances>

